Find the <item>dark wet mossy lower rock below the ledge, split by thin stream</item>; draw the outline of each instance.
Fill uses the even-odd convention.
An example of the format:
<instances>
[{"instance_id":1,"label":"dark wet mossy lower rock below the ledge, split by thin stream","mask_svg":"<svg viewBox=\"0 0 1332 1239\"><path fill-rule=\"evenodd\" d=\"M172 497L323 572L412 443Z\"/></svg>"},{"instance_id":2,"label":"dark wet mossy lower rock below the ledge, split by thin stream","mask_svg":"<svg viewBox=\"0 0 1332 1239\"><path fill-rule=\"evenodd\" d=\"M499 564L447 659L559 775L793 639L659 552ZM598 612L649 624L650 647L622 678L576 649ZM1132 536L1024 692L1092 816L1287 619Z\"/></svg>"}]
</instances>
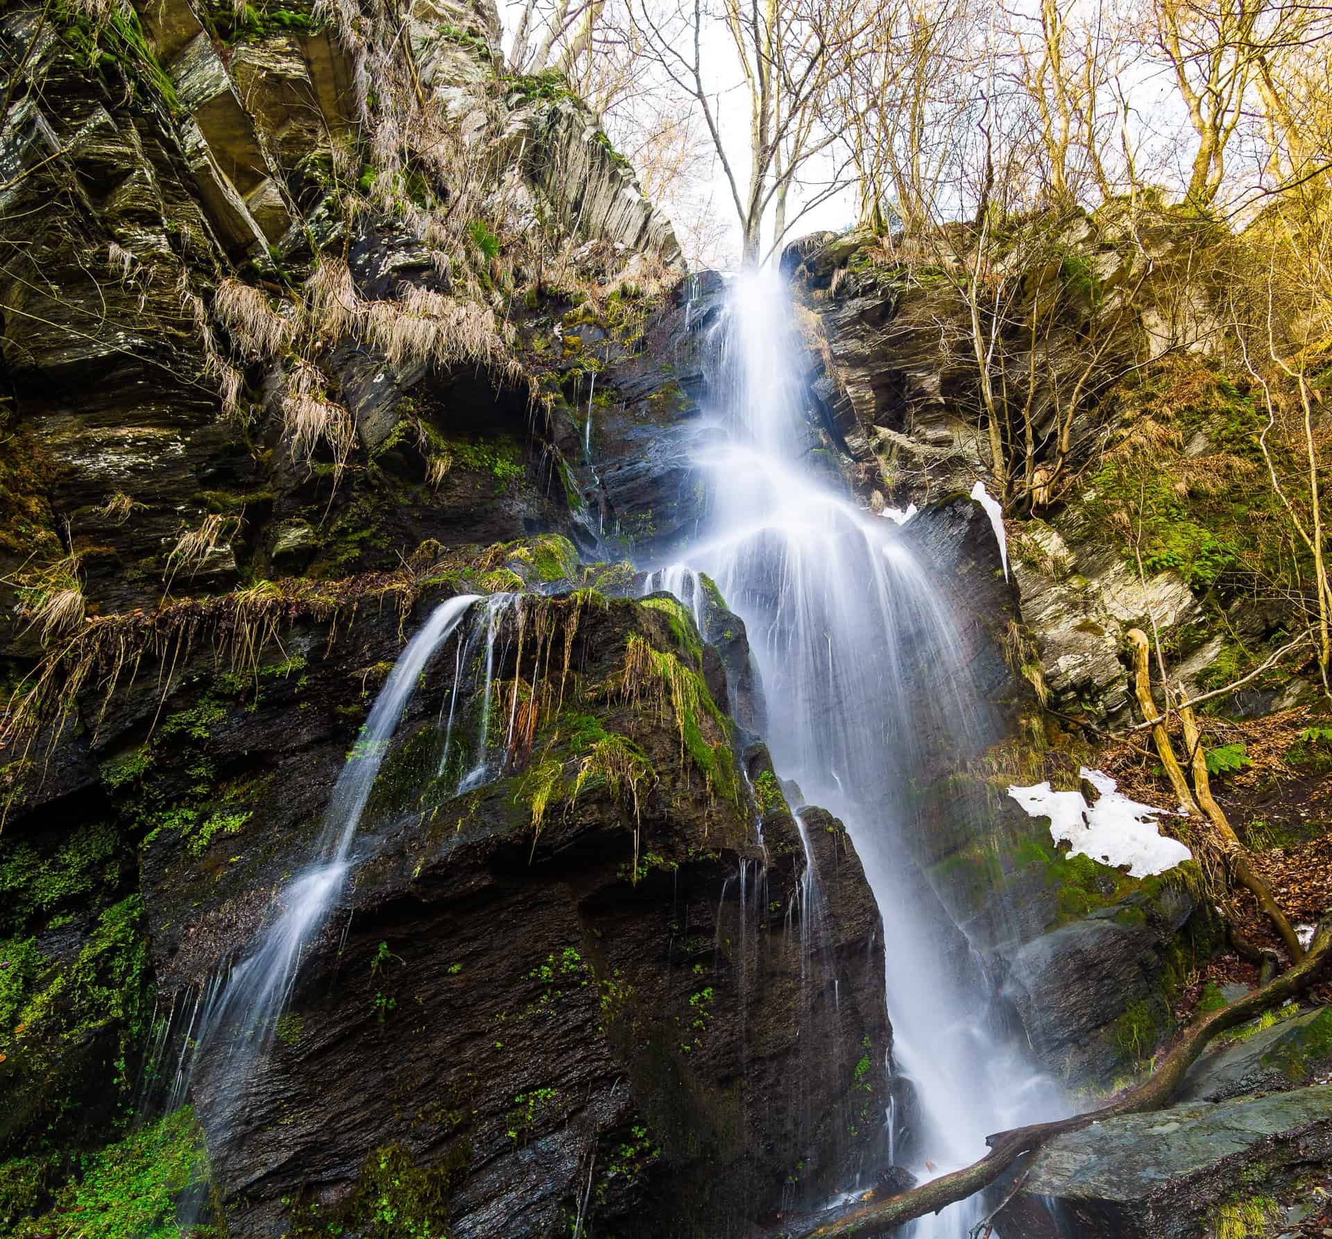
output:
<instances>
[{"instance_id":1,"label":"dark wet mossy lower rock below the ledge, split by thin stream","mask_svg":"<svg viewBox=\"0 0 1332 1239\"><path fill-rule=\"evenodd\" d=\"M4 947L7 1146L36 1184L7 1207L40 1214L55 1150L113 1130L89 1091L131 1107L169 1088L201 987L306 863L402 634L484 576L542 584L543 553L293 594L281 646L234 669L202 653L237 622L218 600L180 617L198 645L168 655L165 698L145 666L79 703L81 761L0 845L24 901ZM840 825L807 810L806 853L766 753L742 773L723 667L677 604L527 593L506 614L489 705L509 725L482 742L485 643L440 651L272 1054L237 1082L218 1047L194 1078L232 1235L322 1234L384 1200L449 1234L550 1235L579 1211L713 1234L848 1183L876 1148L883 947ZM478 754L494 777L460 794Z\"/></svg>"}]
</instances>

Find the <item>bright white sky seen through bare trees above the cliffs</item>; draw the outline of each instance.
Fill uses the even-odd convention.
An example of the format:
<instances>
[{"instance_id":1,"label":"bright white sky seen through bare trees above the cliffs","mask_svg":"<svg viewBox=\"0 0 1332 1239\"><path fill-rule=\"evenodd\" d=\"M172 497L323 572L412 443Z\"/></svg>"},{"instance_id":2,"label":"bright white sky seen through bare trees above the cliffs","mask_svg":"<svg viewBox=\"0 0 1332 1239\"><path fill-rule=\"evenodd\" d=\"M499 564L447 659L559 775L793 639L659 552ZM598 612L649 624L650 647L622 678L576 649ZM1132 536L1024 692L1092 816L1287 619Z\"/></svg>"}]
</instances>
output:
<instances>
[{"instance_id":1,"label":"bright white sky seen through bare trees above the cliffs","mask_svg":"<svg viewBox=\"0 0 1332 1239\"><path fill-rule=\"evenodd\" d=\"M813 117L803 141L814 153L791 173L783 244L871 216L892 228L911 214L902 196L902 169L911 165L919 165L918 214L935 222L970 217L984 189L987 147L1007 210L1034 208L1052 193L1066 206L1095 208L1136 187L1159 191L1164 203L1200 195L1203 209L1239 221L1332 149L1332 11L1313 4L730 3L502 7L506 56L526 12L522 68L567 72L645 191L675 221L694 265L734 265L741 254L737 199L746 199L758 145L753 69L747 79L735 51L743 21L770 21L781 32L774 45L790 49L770 57L773 128L794 132L782 129L783 108L795 107L789 100L802 88L801 105ZM693 55L695 13L702 97L682 69ZM809 65L819 57L811 47L829 49L813 87ZM546 55L534 64L538 51ZM1299 143L1296 131L1304 135ZM1217 157L1199 169L1204 141ZM782 157L769 172L769 196ZM773 246L779 214L777 199L767 201L761 254Z\"/></svg>"}]
</instances>

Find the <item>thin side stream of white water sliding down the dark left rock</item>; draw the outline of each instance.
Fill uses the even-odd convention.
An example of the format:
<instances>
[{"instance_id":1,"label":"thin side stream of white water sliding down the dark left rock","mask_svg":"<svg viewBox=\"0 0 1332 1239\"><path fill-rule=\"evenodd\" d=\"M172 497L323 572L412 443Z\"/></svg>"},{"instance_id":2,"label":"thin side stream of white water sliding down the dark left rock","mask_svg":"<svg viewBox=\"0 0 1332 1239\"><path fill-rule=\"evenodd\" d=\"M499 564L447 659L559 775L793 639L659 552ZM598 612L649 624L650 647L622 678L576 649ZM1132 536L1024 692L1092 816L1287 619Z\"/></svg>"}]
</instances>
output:
<instances>
[{"instance_id":1,"label":"thin side stream of white water sliding down the dark left rock","mask_svg":"<svg viewBox=\"0 0 1332 1239\"><path fill-rule=\"evenodd\" d=\"M209 1126L225 1130L237 1111L256 1059L272 1044L301 955L344 887L357 826L421 673L477 601L465 594L441 602L398 655L333 786L309 866L278 895L278 914L250 954L229 973L214 975L196 997L181 1039L172 1106L184 1103L197 1067L208 1059L210 1070L217 1070L221 1054L226 1086L217 1090L221 1112L208 1116Z\"/></svg>"}]
</instances>

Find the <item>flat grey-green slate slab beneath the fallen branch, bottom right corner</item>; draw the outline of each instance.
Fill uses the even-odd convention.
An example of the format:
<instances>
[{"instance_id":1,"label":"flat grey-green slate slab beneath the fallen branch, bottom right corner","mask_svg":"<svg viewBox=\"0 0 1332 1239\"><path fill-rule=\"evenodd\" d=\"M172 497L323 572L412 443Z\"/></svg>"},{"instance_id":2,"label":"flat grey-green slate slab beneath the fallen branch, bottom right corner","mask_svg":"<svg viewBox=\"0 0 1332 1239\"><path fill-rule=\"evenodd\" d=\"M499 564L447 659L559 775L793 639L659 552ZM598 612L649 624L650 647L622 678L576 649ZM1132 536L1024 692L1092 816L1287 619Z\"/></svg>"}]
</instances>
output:
<instances>
[{"instance_id":1,"label":"flat grey-green slate slab beneath the fallen branch, bottom right corner","mask_svg":"<svg viewBox=\"0 0 1332 1239\"><path fill-rule=\"evenodd\" d=\"M999 1226L1026 1239L1200 1239L1332 1158L1332 1086L1107 1119L1036 1154ZM1063 1227L1063 1228L1060 1228Z\"/></svg>"}]
</instances>

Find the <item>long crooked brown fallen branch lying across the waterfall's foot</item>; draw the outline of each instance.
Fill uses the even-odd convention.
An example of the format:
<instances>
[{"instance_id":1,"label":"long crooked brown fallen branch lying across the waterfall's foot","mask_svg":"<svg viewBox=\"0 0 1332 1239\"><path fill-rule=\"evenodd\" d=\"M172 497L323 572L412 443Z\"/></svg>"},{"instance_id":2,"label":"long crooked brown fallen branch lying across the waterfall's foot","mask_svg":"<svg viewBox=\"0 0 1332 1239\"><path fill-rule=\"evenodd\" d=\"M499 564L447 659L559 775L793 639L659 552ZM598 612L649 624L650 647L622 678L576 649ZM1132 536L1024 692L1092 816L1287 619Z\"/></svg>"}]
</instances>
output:
<instances>
[{"instance_id":1,"label":"long crooked brown fallen branch lying across the waterfall's foot","mask_svg":"<svg viewBox=\"0 0 1332 1239\"><path fill-rule=\"evenodd\" d=\"M1026 1152L1035 1152L1043 1144L1068 1131L1080 1131L1092 1123L1118 1118L1122 1114L1140 1114L1159 1110L1173 1096L1188 1068L1207 1048L1207 1044L1228 1029L1233 1029L1269 1007L1303 994L1313 985L1332 963L1332 917L1324 918L1305 957L1287 969L1280 977L1261 989L1245 994L1227 1007L1208 1011L1199 1017L1180 1038L1179 1043L1166 1055L1152 1075L1118 1102L1111 1102L1100 1110L1058 1119L1052 1123L1034 1123L1012 1131L1000 1131L986 1139L990 1152L979 1162L940 1175L911 1191L863 1204L851 1212L803 1231L801 1239L838 1239L842 1235L884 1235L906 1222L936 1214L948 1204L964 1200L984 1187L988 1187L1014 1162Z\"/></svg>"}]
</instances>

